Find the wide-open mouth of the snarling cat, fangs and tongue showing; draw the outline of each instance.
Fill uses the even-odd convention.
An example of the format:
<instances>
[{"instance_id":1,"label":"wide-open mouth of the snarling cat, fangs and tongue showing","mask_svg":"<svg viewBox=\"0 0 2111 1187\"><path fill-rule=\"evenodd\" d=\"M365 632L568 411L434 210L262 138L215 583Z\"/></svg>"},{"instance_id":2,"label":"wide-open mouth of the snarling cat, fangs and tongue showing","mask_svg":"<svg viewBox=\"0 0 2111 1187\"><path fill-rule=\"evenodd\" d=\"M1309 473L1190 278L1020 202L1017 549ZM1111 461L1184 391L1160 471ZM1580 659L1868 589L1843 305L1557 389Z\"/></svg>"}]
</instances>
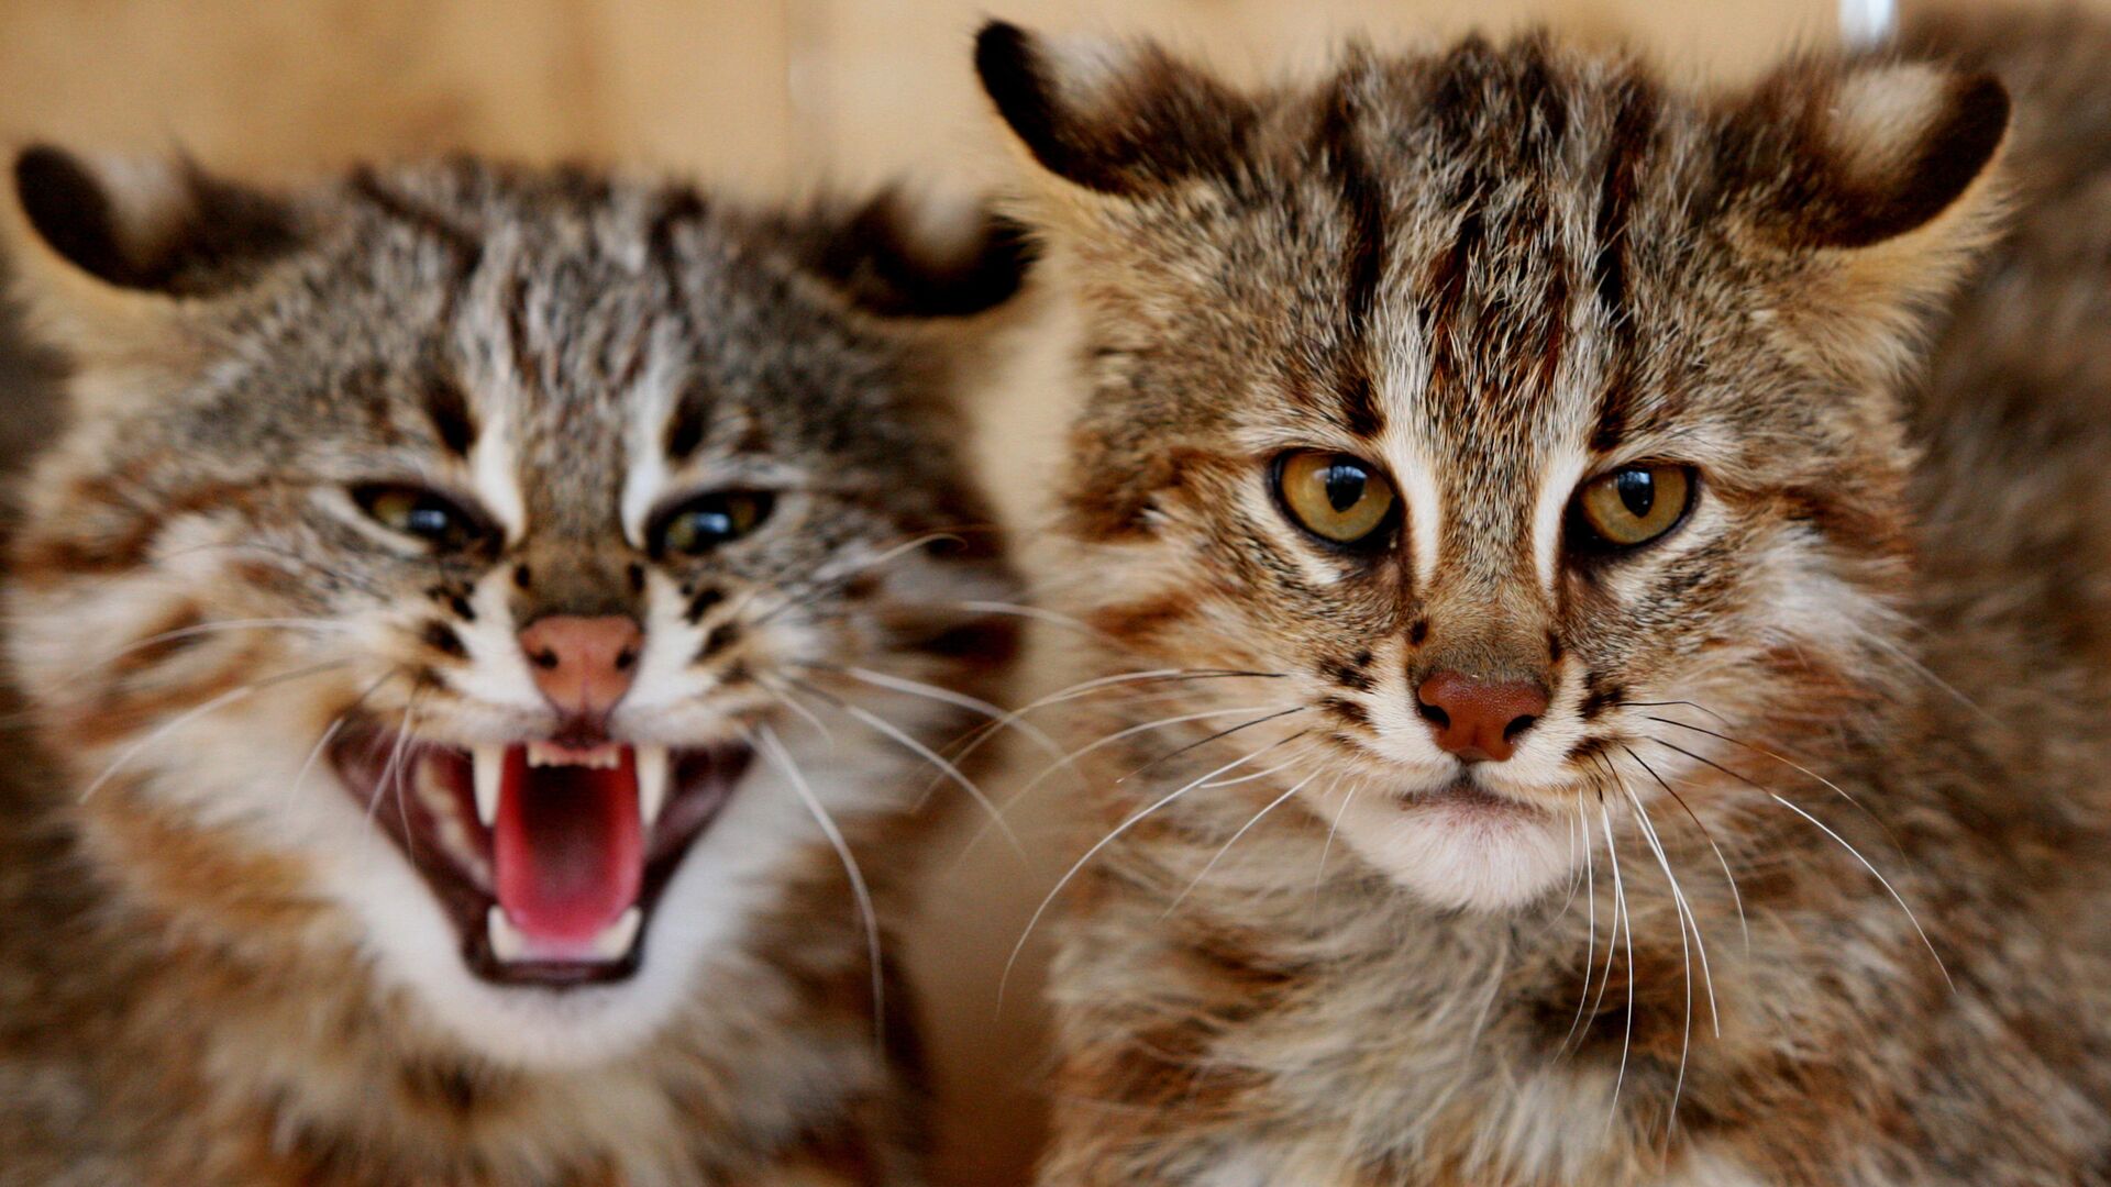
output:
<instances>
[{"instance_id":1,"label":"wide-open mouth of the snarling cat, fangs and tongue showing","mask_svg":"<svg viewBox=\"0 0 2111 1187\"><path fill-rule=\"evenodd\" d=\"M344 731L331 758L454 921L475 976L570 986L638 972L661 891L749 750L458 750L374 727Z\"/></svg>"}]
</instances>

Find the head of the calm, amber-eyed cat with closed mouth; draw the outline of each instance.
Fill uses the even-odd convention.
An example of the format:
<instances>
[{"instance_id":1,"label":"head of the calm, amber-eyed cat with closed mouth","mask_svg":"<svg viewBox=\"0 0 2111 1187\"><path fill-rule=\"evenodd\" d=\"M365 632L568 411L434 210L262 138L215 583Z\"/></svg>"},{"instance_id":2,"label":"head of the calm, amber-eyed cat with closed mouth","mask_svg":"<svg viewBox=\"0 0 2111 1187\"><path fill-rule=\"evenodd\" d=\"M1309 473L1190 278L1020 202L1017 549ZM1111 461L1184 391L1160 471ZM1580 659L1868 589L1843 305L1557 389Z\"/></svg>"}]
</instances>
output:
<instances>
[{"instance_id":1,"label":"head of the calm, amber-eyed cat with closed mouth","mask_svg":"<svg viewBox=\"0 0 2111 1187\"><path fill-rule=\"evenodd\" d=\"M1537 900L1598 796L1704 769L1693 727L1887 701L1894 389L1997 226L1995 80L1682 93L1533 36L1235 89L1005 23L977 68L1085 310L1089 621L1140 670L1269 674L1191 699L1395 881Z\"/></svg>"}]
</instances>

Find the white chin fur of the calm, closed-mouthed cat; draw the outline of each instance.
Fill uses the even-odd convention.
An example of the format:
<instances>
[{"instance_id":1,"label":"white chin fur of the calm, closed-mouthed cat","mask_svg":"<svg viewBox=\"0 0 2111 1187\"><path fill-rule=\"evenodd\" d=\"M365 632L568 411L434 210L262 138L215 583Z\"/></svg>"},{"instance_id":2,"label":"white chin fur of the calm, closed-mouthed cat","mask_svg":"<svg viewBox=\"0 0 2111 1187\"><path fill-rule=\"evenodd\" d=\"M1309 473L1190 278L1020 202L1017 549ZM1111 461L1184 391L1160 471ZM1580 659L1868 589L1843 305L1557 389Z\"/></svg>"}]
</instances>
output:
<instances>
[{"instance_id":1,"label":"white chin fur of the calm, closed-mouthed cat","mask_svg":"<svg viewBox=\"0 0 2111 1187\"><path fill-rule=\"evenodd\" d=\"M1547 813L1488 813L1355 796L1340 836L1366 862L1438 908L1505 910L1562 885L1575 836Z\"/></svg>"}]
</instances>

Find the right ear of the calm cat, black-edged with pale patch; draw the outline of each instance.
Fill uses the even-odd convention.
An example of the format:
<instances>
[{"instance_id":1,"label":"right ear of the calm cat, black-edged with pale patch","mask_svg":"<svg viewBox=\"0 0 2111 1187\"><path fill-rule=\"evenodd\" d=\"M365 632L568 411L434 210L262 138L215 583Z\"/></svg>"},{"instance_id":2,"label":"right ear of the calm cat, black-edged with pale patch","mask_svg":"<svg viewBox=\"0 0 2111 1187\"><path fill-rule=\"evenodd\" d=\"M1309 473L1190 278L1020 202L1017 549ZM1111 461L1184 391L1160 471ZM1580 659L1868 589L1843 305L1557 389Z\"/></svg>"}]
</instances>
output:
<instances>
[{"instance_id":1,"label":"right ear of the calm cat, black-edged with pale patch","mask_svg":"<svg viewBox=\"0 0 2111 1187\"><path fill-rule=\"evenodd\" d=\"M1731 201L1794 256L1784 313L1837 359L1891 357L1999 232L2008 91L1929 63L1792 63L1727 123Z\"/></svg>"}]
</instances>

